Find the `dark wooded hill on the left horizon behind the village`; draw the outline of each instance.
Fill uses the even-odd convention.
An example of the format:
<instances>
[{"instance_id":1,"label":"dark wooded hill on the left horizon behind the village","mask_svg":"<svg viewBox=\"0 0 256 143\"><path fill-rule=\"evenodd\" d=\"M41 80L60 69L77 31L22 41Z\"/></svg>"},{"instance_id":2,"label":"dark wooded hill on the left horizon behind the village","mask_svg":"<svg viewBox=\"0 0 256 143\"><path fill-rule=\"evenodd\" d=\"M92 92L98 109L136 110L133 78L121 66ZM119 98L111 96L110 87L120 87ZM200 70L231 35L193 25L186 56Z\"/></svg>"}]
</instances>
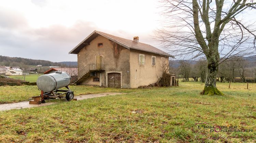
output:
<instances>
[{"instance_id":1,"label":"dark wooded hill on the left horizon behind the village","mask_svg":"<svg viewBox=\"0 0 256 143\"><path fill-rule=\"evenodd\" d=\"M42 65L42 66L63 66L61 63L45 61L45 60L33 60L20 57L7 57L0 55L0 65L4 66L20 66L25 65Z\"/></svg>"}]
</instances>

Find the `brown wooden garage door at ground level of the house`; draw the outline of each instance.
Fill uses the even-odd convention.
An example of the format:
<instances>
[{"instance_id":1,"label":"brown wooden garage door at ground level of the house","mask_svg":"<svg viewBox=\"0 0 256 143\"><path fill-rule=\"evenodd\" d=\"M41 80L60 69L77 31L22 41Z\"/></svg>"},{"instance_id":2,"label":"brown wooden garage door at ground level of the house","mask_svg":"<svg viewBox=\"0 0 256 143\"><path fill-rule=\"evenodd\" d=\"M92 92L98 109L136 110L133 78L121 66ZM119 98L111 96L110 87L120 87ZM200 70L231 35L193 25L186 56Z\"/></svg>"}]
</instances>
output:
<instances>
[{"instance_id":1,"label":"brown wooden garage door at ground level of the house","mask_svg":"<svg viewBox=\"0 0 256 143\"><path fill-rule=\"evenodd\" d=\"M110 88L121 88L121 74L120 73L109 73L108 74L108 86Z\"/></svg>"}]
</instances>

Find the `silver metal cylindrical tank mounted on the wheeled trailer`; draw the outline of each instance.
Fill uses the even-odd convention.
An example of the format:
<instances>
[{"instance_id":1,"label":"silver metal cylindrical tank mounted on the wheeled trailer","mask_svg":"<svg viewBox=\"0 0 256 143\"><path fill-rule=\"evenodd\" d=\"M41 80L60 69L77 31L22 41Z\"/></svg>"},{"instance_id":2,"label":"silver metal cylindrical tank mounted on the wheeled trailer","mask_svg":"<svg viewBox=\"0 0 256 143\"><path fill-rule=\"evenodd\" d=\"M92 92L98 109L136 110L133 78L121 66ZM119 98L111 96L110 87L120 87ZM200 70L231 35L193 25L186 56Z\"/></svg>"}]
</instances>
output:
<instances>
[{"instance_id":1,"label":"silver metal cylindrical tank mounted on the wheeled trailer","mask_svg":"<svg viewBox=\"0 0 256 143\"><path fill-rule=\"evenodd\" d=\"M37 87L43 92L51 92L71 83L71 77L66 72L56 71L52 74L42 75L37 79Z\"/></svg>"}]
</instances>

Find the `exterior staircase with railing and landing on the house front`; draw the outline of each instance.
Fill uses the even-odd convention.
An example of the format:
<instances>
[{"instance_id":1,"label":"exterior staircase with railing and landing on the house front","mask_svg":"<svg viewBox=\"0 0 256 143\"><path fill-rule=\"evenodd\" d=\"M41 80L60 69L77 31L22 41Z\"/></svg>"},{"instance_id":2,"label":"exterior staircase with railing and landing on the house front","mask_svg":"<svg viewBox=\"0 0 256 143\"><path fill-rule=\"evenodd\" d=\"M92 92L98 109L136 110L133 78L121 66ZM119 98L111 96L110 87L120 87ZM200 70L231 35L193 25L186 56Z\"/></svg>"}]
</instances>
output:
<instances>
[{"instance_id":1,"label":"exterior staircase with railing and landing on the house front","mask_svg":"<svg viewBox=\"0 0 256 143\"><path fill-rule=\"evenodd\" d=\"M91 72L104 70L104 64L88 64L78 72L76 84L83 82L84 79L90 76Z\"/></svg>"}]
</instances>

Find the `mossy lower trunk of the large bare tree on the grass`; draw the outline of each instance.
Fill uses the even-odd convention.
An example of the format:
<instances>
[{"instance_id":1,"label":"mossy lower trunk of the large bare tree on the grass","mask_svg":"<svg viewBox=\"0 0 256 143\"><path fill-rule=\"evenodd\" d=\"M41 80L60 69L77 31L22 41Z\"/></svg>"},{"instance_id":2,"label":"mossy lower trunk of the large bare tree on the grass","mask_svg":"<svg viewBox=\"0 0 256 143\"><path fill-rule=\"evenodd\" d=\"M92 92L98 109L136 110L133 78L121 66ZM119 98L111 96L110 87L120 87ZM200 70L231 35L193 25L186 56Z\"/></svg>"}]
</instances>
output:
<instances>
[{"instance_id":1,"label":"mossy lower trunk of the large bare tree on the grass","mask_svg":"<svg viewBox=\"0 0 256 143\"><path fill-rule=\"evenodd\" d=\"M205 79L204 89L201 92L203 95L224 95L216 88L216 76L218 72L218 62L208 60L207 75Z\"/></svg>"}]
</instances>

